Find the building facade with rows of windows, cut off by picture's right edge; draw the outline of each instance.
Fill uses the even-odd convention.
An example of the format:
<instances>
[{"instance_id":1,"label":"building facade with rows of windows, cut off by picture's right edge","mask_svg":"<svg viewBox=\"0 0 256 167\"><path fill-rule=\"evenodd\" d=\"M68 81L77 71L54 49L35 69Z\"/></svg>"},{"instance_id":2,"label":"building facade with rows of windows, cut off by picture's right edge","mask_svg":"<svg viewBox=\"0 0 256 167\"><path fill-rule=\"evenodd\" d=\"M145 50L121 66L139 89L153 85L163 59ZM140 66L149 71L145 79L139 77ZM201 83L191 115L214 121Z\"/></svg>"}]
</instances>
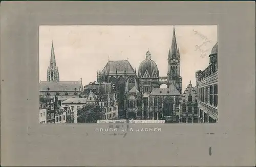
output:
<instances>
[{"instance_id":1,"label":"building facade with rows of windows, cut off by picture's right edge","mask_svg":"<svg viewBox=\"0 0 256 167\"><path fill-rule=\"evenodd\" d=\"M218 122L218 42L212 47L209 65L196 72L200 123Z\"/></svg>"}]
</instances>

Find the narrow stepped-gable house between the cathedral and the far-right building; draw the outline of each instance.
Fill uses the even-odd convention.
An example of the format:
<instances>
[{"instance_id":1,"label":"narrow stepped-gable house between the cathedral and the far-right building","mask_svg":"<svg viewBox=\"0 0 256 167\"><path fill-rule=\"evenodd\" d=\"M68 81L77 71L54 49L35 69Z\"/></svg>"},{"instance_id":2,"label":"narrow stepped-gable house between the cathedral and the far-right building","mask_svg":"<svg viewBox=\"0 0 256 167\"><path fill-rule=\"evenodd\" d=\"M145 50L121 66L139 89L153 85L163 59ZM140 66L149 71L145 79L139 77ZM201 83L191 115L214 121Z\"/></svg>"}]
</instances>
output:
<instances>
[{"instance_id":1,"label":"narrow stepped-gable house between the cathedral and the far-right building","mask_svg":"<svg viewBox=\"0 0 256 167\"><path fill-rule=\"evenodd\" d=\"M193 87L190 81L180 100L181 123L199 123L197 99L197 87Z\"/></svg>"}]
</instances>

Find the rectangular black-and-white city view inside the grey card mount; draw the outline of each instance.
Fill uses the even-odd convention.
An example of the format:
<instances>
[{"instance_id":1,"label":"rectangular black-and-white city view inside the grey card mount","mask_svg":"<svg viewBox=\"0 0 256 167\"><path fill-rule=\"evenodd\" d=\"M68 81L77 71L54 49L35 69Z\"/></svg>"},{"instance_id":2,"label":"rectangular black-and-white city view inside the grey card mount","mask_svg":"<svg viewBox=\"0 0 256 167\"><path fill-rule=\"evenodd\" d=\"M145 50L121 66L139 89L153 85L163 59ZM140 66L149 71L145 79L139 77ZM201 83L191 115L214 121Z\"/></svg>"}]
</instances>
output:
<instances>
[{"instance_id":1,"label":"rectangular black-and-white city view inside the grey card mount","mask_svg":"<svg viewBox=\"0 0 256 167\"><path fill-rule=\"evenodd\" d=\"M217 123L218 27L40 26L39 123Z\"/></svg>"}]
</instances>

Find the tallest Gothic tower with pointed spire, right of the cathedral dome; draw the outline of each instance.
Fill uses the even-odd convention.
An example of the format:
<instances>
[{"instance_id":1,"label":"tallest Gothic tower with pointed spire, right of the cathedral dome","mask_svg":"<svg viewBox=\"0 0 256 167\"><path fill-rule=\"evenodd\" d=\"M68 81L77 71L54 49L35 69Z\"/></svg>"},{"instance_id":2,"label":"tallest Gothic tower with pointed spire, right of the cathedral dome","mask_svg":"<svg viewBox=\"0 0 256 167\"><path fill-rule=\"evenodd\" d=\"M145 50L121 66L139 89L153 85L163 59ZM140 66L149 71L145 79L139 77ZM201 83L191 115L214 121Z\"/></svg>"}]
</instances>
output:
<instances>
[{"instance_id":1,"label":"tallest Gothic tower with pointed spire, right of the cathedral dome","mask_svg":"<svg viewBox=\"0 0 256 167\"><path fill-rule=\"evenodd\" d=\"M177 47L175 28L173 30L172 45L168 54L168 87L174 84L175 87L182 94L182 77L180 76L180 49Z\"/></svg>"}]
</instances>

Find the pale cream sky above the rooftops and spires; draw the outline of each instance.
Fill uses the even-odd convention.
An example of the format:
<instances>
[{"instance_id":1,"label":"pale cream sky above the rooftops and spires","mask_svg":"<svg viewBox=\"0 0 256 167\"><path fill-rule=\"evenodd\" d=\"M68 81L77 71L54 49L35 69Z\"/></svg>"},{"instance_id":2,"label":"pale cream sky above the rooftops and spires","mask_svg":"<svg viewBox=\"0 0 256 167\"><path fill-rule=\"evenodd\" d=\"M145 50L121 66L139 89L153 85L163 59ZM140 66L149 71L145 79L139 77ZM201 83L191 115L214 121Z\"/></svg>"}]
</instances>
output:
<instances>
[{"instance_id":1,"label":"pale cream sky above the rooftops and spires","mask_svg":"<svg viewBox=\"0 0 256 167\"><path fill-rule=\"evenodd\" d=\"M197 31L198 33L195 33ZM218 40L217 26L175 26L180 47L182 90L189 80L195 86L195 71L209 64L208 55ZM137 69L149 49L160 76L167 74L168 49L173 26L40 26L39 80L46 81L52 40L60 81L96 81L97 69L110 60L127 60ZM196 45L201 45L201 51ZM206 57L202 58L202 52Z\"/></svg>"}]
</instances>

